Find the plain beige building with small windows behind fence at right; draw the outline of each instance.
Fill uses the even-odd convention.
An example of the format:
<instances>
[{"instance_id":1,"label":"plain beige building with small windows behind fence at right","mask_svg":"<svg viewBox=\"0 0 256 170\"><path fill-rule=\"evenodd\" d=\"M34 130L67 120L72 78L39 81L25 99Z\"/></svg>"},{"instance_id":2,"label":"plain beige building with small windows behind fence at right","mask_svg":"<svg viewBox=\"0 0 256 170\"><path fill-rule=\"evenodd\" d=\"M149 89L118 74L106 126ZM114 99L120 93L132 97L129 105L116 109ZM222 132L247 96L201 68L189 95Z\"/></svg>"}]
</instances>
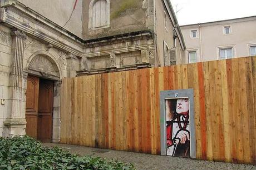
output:
<instances>
[{"instance_id":1,"label":"plain beige building with small windows behind fence at right","mask_svg":"<svg viewBox=\"0 0 256 170\"><path fill-rule=\"evenodd\" d=\"M190 63L256 56L256 16L180 28Z\"/></svg>"}]
</instances>

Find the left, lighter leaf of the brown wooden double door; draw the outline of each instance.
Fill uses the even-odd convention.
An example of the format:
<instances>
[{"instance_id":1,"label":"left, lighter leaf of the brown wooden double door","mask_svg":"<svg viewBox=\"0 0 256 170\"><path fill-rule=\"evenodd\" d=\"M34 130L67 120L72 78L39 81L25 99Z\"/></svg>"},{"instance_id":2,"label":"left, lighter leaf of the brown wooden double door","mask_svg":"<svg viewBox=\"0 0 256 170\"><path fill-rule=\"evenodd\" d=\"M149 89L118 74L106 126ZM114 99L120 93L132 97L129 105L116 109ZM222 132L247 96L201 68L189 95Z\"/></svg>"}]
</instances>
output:
<instances>
[{"instance_id":1,"label":"left, lighter leaf of the brown wooden double door","mask_svg":"<svg viewBox=\"0 0 256 170\"><path fill-rule=\"evenodd\" d=\"M37 114L38 114L39 78L28 76L26 91L26 134L37 138Z\"/></svg>"}]
</instances>

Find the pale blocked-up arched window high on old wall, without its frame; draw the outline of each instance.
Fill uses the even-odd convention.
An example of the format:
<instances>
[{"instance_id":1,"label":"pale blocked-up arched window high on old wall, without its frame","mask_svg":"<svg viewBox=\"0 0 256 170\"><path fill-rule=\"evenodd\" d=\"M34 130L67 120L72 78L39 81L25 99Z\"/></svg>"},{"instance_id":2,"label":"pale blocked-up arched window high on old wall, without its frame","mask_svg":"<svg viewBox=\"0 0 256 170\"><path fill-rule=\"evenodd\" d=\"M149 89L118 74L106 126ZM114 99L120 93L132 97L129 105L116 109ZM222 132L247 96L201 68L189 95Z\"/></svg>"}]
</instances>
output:
<instances>
[{"instance_id":1,"label":"pale blocked-up arched window high on old wall, without its frame","mask_svg":"<svg viewBox=\"0 0 256 170\"><path fill-rule=\"evenodd\" d=\"M92 0L89 7L89 28L106 28L109 23L109 0Z\"/></svg>"}]
</instances>

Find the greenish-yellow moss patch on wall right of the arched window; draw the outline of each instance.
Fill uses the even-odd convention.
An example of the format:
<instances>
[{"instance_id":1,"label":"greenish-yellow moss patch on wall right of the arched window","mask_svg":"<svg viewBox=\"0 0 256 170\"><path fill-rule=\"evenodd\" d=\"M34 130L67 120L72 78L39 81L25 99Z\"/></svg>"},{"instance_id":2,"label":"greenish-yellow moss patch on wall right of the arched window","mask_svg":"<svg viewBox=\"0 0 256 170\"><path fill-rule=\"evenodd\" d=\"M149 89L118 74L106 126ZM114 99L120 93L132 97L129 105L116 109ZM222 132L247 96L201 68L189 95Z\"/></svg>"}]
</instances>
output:
<instances>
[{"instance_id":1,"label":"greenish-yellow moss patch on wall right of the arched window","mask_svg":"<svg viewBox=\"0 0 256 170\"><path fill-rule=\"evenodd\" d=\"M122 13L125 13L129 9L137 9L139 7L139 3L140 1L138 0L122 1L120 7L111 13L110 19L115 19L121 16Z\"/></svg>"}]
</instances>

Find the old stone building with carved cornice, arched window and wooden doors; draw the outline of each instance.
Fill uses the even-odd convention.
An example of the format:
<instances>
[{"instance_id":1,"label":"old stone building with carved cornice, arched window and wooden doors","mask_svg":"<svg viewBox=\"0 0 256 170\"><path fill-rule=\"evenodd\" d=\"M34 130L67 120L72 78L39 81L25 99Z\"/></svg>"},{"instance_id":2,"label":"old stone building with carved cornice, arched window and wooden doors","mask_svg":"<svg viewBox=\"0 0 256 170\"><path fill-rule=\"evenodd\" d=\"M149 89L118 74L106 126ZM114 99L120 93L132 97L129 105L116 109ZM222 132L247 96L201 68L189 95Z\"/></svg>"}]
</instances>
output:
<instances>
[{"instance_id":1,"label":"old stone building with carved cornice, arched window and wooden doors","mask_svg":"<svg viewBox=\"0 0 256 170\"><path fill-rule=\"evenodd\" d=\"M60 140L61 80L187 62L168 0L1 0L0 136Z\"/></svg>"}]
</instances>

